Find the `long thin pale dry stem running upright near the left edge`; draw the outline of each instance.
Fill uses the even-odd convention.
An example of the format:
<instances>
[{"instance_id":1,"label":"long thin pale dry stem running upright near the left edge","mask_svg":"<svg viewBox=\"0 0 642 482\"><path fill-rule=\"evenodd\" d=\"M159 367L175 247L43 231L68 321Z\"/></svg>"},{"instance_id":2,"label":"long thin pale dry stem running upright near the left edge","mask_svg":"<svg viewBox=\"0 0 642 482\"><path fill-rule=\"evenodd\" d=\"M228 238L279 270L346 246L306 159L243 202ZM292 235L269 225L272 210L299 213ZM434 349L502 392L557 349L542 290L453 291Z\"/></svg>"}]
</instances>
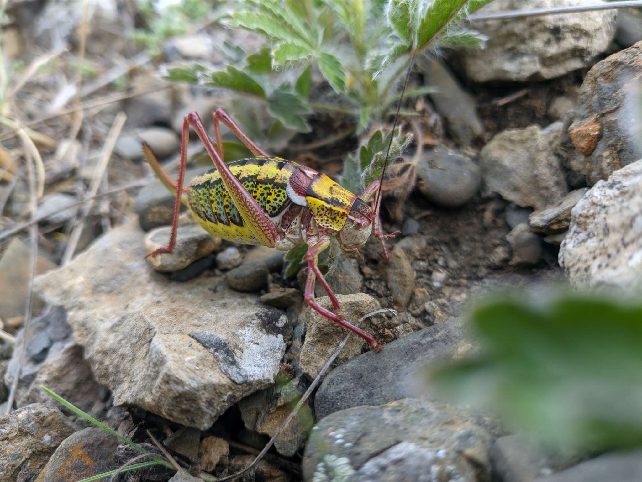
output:
<instances>
[{"instance_id":1,"label":"long thin pale dry stem running upright near the left edge","mask_svg":"<svg viewBox=\"0 0 642 482\"><path fill-rule=\"evenodd\" d=\"M33 220L36 217L36 210L38 209L38 204L36 200L36 180L35 174L33 173L33 164L31 159L30 151L27 151L25 154L25 159L27 161L27 177L29 180L29 201L31 208L31 219ZM24 363L24 354L27 349L27 343L30 337L30 322L31 322L31 299L33 295L33 278L35 277L36 272L36 259L38 257L38 226L34 223L31 225L31 258L29 266L29 281L27 285L27 299L24 306L24 336L22 337L22 347L20 350L20 357L18 358L18 366L15 369L15 374L13 375L13 381L11 384L11 389L9 392L9 399L6 405L5 415L11 413L13 407L13 400L15 400L15 392L18 388L18 381L20 379L20 373L22 371L22 364Z\"/></svg>"}]
</instances>

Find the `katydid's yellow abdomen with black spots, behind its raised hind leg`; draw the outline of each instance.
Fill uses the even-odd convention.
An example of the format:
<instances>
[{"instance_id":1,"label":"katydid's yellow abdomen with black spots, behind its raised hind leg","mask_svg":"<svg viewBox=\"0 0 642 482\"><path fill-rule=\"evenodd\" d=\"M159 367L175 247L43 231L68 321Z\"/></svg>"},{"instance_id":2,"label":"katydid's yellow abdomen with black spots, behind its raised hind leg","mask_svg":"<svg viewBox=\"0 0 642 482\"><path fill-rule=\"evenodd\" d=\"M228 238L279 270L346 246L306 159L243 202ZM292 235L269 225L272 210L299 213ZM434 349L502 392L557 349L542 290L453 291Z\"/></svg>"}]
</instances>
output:
<instances>
[{"instance_id":1,"label":"katydid's yellow abdomen with black spots, behind its raised hind leg","mask_svg":"<svg viewBox=\"0 0 642 482\"><path fill-rule=\"evenodd\" d=\"M270 218L290 204L286 184L299 164L278 157L254 157L230 162L228 166ZM241 218L216 168L187 186L187 200L193 216L206 231L246 245L262 244Z\"/></svg>"}]
</instances>

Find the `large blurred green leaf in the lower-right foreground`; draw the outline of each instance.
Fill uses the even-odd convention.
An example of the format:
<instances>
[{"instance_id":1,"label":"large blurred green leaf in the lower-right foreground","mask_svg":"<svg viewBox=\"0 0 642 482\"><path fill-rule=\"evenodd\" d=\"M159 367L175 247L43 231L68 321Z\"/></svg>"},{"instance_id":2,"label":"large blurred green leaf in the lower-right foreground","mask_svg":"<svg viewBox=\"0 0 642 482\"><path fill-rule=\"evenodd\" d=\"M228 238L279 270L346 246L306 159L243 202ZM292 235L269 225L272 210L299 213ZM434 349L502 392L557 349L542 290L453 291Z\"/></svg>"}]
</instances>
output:
<instances>
[{"instance_id":1,"label":"large blurred green leaf in the lower-right foreground","mask_svg":"<svg viewBox=\"0 0 642 482\"><path fill-rule=\"evenodd\" d=\"M642 306L595 295L508 295L470 316L472 357L437 369L449 400L562 449L642 445Z\"/></svg>"}]
</instances>

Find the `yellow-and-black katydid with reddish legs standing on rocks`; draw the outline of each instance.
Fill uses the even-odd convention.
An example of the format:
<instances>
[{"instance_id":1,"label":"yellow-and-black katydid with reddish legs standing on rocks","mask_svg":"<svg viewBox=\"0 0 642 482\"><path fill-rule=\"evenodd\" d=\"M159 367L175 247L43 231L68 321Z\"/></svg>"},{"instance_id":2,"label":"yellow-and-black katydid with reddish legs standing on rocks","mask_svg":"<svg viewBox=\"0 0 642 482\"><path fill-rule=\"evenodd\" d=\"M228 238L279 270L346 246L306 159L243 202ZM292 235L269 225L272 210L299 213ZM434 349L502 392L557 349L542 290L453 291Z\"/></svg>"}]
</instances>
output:
<instances>
[{"instance_id":1,"label":"yellow-and-black katydid with reddish legs standing on rocks","mask_svg":"<svg viewBox=\"0 0 642 482\"><path fill-rule=\"evenodd\" d=\"M160 167L149 146L143 144L147 162L166 187L176 193L169 244L148 256L174 249L181 202L189 207L205 230L223 239L248 245L265 245L279 251L306 244L309 266L304 289L306 303L325 318L361 336L374 350L381 350L381 345L372 335L345 320L341 306L319 270L317 261L320 252L330 246L333 236L336 236L343 253L353 255L365 245L371 234L381 241L383 255L390 260L385 241L398 231L384 234L381 227L379 211L383 173L361 196L356 196L314 169L270 156L243 133L225 110L216 110L213 117L216 146L197 112L185 116L177 181ZM220 123L227 126L255 157L225 164ZM216 167L183 187L190 127L195 130ZM317 279L330 298L333 311L315 302L314 286Z\"/></svg>"}]
</instances>

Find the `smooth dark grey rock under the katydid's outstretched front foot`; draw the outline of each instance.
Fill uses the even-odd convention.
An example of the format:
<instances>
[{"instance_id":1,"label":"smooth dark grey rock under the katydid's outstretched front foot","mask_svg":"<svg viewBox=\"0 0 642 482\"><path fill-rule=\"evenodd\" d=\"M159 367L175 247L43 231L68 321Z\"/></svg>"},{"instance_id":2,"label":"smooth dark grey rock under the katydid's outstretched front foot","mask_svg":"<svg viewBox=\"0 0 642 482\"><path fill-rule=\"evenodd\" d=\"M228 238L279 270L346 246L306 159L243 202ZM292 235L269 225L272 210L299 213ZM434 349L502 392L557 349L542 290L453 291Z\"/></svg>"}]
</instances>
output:
<instances>
[{"instance_id":1,"label":"smooth dark grey rock under the katydid's outstretched front foot","mask_svg":"<svg viewBox=\"0 0 642 482\"><path fill-rule=\"evenodd\" d=\"M428 389L417 383L425 367L459 359L472 349L465 324L455 319L392 341L379 353L367 352L346 361L325 377L315 395L317 420L358 405L430 397Z\"/></svg>"}]
</instances>

